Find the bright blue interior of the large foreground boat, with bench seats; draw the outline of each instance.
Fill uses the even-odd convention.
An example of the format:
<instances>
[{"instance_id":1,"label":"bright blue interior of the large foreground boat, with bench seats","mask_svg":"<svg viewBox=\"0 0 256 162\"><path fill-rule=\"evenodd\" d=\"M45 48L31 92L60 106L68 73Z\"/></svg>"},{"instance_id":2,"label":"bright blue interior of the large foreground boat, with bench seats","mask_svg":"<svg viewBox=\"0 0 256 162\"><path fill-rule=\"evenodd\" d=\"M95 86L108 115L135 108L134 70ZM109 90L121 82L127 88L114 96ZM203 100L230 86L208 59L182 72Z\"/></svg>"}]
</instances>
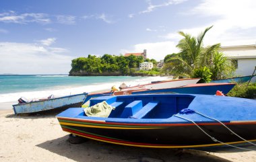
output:
<instances>
[{"instance_id":1,"label":"bright blue interior of the large foreground boat, with bench seats","mask_svg":"<svg viewBox=\"0 0 256 162\"><path fill-rule=\"evenodd\" d=\"M170 118L188 108L193 95L120 95L90 99L90 106L106 101L115 107L108 118ZM86 116L86 114L84 114Z\"/></svg>"}]
</instances>

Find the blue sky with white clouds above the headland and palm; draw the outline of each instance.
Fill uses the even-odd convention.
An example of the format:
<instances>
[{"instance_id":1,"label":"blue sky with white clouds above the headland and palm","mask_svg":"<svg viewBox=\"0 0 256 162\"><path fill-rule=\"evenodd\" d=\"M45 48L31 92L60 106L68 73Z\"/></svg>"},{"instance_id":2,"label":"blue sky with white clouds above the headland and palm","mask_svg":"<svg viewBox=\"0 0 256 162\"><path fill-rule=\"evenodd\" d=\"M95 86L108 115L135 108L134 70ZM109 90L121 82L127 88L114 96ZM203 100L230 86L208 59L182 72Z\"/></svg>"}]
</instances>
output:
<instances>
[{"instance_id":1,"label":"blue sky with white clouds above the headland and palm","mask_svg":"<svg viewBox=\"0 0 256 162\"><path fill-rule=\"evenodd\" d=\"M163 59L179 31L194 36L214 25L205 46L255 44L253 0L3 0L0 74L67 74L71 60L147 49Z\"/></svg>"}]
</instances>

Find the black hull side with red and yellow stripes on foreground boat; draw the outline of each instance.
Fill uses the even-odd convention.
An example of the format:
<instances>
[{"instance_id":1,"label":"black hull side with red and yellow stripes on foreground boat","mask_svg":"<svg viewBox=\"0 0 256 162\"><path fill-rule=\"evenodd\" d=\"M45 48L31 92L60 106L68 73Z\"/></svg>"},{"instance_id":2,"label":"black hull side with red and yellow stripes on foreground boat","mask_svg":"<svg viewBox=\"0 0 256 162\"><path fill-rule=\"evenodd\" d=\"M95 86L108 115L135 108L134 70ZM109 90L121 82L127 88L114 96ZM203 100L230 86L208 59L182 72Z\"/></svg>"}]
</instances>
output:
<instances>
[{"instance_id":1,"label":"black hull side with red and yellow stripes on foreground boat","mask_svg":"<svg viewBox=\"0 0 256 162\"><path fill-rule=\"evenodd\" d=\"M195 148L222 145L221 143L214 142L212 138L205 135L195 124L120 124L67 118L58 118L58 120L61 128L66 132L118 145L152 148ZM236 134L243 136L243 138L256 141L256 131L250 134L245 132L245 130L254 130L256 122L225 124ZM220 123L200 123L198 125L223 143L230 145L245 143L241 138L231 134Z\"/></svg>"}]
</instances>

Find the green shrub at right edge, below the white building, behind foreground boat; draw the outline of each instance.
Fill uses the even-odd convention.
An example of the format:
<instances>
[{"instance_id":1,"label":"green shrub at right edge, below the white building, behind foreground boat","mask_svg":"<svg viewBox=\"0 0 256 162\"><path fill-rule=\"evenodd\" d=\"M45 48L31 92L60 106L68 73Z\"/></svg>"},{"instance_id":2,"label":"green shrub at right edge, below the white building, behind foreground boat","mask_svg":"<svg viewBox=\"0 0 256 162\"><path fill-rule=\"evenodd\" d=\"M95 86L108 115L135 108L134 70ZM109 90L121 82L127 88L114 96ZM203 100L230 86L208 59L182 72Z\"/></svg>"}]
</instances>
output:
<instances>
[{"instance_id":1,"label":"green shrub at right edge, below the white building, behind foreground boat","mask_svg":"<svg viewBox=\"0 0 256 162\"><path fill-rule=\"evenodd\" d=\"M230 97L242 97L253 99L256 95L256 83L236 84L234 88L227 94Z\"/></svg>"}]
</instances>

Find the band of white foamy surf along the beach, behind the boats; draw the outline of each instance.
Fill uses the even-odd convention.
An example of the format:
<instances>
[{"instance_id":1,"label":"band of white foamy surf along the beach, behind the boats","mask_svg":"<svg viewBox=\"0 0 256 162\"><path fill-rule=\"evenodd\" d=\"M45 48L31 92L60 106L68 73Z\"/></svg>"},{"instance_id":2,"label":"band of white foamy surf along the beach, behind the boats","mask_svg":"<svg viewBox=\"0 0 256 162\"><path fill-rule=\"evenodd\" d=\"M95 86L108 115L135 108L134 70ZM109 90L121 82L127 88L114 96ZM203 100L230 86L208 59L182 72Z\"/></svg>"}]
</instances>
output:
<instances>
[{"instance_id":1,"label":"band of white foamy surf along the beach, behind the boats","mask_svg":"<svg viewBox=\"0 0 256 162\"><path fill-rule=\"evenodd\" d=\"M140 77L139 77L140 78ZM55 97L61 97L65 95L78 94L78 93L95 93L100 91L110 91L113 85L119 86L121 83L127 83L127 85L137 85L137 83L150 83L151 81L156 80L166 80L171 79L171 77L145 77L145 79L131 79L128 80L122 79L121 81L113 80L113 82L102 82L102 83L90 83L89 85L67 85L59 87L49 87L42 90L34 91L20 91L20 92L11 92L11 93L2 93L0 94L0 110L1 109L10 109L11 105L17 104L20 97L26 97L28 100L31 99L40 99L48 97L53 94Z\"/></svg>"}]
</instances>

